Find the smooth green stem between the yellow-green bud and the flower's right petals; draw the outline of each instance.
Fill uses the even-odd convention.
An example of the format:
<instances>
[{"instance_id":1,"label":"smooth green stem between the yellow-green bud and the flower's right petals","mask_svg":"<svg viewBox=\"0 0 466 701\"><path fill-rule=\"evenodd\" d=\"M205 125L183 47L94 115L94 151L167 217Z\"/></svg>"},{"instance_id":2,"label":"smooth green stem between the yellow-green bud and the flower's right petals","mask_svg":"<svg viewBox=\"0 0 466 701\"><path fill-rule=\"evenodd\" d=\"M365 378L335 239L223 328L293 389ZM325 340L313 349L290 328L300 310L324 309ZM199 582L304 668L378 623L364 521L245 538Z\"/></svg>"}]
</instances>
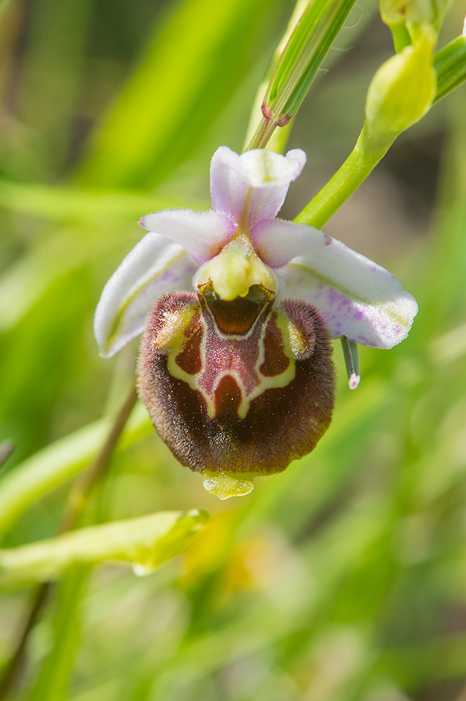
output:
<instances>
[{"instance_id":1,"label":"smooth green stem between the yellow-green bud and the flower's right petals","mask_svg":"<svg viewBox=\"0 0 466 701\"><path fill-rule=\"evenodd\" d=\"M304 210L299 212L295 222L311 224L320 229L374 170L395 138L396 135L387 137L381 142L374 142L364 125L358 142L344 164L304 207Z\"/></svg>"}]
</instances>

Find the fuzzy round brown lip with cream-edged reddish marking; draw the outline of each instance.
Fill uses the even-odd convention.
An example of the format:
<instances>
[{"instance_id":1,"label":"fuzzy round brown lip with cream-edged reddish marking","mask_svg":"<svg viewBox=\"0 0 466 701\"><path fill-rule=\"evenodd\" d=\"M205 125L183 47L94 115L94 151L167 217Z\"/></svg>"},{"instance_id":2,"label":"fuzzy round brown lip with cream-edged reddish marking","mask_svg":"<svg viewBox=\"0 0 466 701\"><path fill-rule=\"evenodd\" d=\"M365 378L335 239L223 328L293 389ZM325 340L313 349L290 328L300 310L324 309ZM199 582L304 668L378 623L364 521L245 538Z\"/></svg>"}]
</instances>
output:
<instances>
[{"instance_id":1,"label":"fuzzy round brown lip with cream-edged reddish marking","mask_svg":"<svg viewBox=\"0 0 466 701\"><path fill-rule=\"evenodd\" d=\"M218 491L220 477L249 484L316 446L332 418L331 354L311 304L274 304L274 292L257 284L225 301L206 283L153 306L139 394L178 461Z\"/></svg>"}]
</instances>

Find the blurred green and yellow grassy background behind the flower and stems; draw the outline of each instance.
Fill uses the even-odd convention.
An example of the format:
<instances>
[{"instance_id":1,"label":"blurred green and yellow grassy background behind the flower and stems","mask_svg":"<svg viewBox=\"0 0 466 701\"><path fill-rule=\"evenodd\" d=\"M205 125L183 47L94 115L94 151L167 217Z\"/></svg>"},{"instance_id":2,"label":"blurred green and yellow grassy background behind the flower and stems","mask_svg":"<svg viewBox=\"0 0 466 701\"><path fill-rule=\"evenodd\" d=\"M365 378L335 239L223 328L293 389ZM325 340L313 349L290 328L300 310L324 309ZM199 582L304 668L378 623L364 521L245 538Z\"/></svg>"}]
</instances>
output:
<instances>
[{"instance_id":1,"label":"blurred green and yellow grassy background behind the flower and stems","mask_svg":"<svg viewBox=\"0 0 466 701\"><path fill-rule=\"evenodd\" d=\"M241 151L287 0L0 4L0 440L8 475L113 414L138 341L101 360L92 316L141 215L209 207L209 160ZM458 1L439 46L460 34ZM292 218L351 151L393 53L361 0L295 119L308 163ZM65 632L55 599L13 699L45 701L51 651L70 701L466 699L466 88L395 142L325 231L397 275L420 311L393 351L362 348L313 454L219 501L155 431L118 450L107 521L204 506L209 526L146 578L100 566ZM3 547L52 536L71 482ZM31 590L0 601L0 665ZM60 637L62 636L62 637ZM66 645L64 644L66 641ZM66 648L66 649L65 649ZM61 660L61 661L60 661Z\"/></svg>"}]
</instances>

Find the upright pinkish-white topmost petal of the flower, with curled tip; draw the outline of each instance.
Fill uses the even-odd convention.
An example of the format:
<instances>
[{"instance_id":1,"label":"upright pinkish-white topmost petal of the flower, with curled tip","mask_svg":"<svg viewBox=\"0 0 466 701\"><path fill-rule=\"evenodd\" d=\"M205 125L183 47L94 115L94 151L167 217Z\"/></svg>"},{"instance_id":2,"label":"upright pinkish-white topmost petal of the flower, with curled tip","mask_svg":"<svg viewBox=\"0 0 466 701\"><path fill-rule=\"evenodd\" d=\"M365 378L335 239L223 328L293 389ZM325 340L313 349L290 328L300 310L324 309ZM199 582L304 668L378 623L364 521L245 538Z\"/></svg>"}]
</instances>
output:
<instances>
[{"instance_id":1,"label":"upright pinkish-white topmost petal of the flower, with curled tip","mask_svg":"<svg viewBox=\"0 0 466 701\"><path fill-rule=\"evenodd\" d=\"M273 219L285 200L290 182L301 175L306 154L301 149L286 156L256 149L235 154L221 146L211 161L211 197L216 212L227 212L249 226Z\"/></svg>"}]
</instances>

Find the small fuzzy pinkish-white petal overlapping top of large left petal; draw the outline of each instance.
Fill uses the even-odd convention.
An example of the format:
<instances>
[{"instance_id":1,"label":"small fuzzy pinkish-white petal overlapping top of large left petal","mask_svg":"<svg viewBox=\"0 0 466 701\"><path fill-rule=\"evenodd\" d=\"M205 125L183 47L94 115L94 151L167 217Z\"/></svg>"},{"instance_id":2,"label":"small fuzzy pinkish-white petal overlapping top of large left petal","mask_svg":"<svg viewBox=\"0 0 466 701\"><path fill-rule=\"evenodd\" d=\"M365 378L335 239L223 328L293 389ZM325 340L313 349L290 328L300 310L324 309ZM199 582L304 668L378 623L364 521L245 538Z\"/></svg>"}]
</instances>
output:
<instances>
[{"instance_id":1,"label":"small fuzzy pinkish-white petal overlapping top of large left petal","mask_svg":"<svg viewBox=\"0 0 466 701\"><path fill-rule=\"evenodd\" d=\"M212 210L164 210L146 215L139 224L182 245L199 265L220 253L235 228L231 217Z\"/></svg>"}]
</instances>

